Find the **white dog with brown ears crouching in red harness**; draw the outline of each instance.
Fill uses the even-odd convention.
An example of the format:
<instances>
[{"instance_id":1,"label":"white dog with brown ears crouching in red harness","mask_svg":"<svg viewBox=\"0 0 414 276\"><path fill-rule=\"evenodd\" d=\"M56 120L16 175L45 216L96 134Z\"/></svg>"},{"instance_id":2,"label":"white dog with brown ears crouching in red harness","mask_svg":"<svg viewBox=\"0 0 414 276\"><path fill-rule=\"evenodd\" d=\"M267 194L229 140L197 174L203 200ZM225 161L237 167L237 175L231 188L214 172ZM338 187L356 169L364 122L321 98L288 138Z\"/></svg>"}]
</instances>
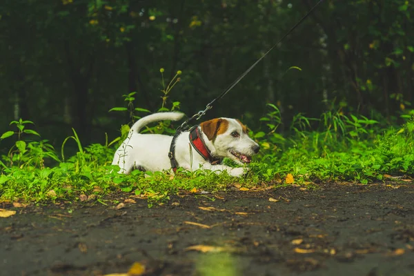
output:
<instances>
[{"instance_id":1,"label":"white dog with brown ears crouching in red harness","mask_svg":"<svg viewBox=\"0 0 414 276\"><path fill-rule=\"evenodd\" d=\"M199 126L176 135L172 150L172 136L139 133L150 123L178 121L182 117L184 113L181 112L159 112L139 119L115 152L112 165L118 165L121 169L119 172L125 174L134 169L154 172L174 167L171 162L173 159L177 166L186 170L226 170L233 177L244 175L247 168L232 168L221 164L224 157L239 165L248 164L252 156L259 152L259 145L248 137L246 126L237 119L204 121Z\"/></svg>"}]
</instances>

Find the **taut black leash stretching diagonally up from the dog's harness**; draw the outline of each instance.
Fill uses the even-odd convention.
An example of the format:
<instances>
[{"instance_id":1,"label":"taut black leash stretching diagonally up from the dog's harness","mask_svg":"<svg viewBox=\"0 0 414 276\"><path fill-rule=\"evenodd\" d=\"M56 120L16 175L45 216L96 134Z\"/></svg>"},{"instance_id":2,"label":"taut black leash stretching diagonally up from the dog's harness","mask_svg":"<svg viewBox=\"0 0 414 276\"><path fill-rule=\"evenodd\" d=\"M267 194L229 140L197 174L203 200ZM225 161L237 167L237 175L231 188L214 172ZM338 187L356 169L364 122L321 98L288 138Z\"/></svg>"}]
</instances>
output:
<instances>
[{"instance_id":1,"label":"taut black leash stretching diagonally up from the dog's harness","mask_svg":"<svg viewBox=\"0 0 414 276\"><path fill-rule=\"evenodd\" d=\"M207 103L207 106L204 110L201 110L199 112L197 112L195 115L193 115L193 117L188 118L186 121L184 121L183 124L181 124L181 126L179 126L177 128L177 132L181 132L183 131L182 129L186 130L189 128L188 123L190 121L193 121L194 119L198 120L201 117L203 117L206 112L208 110L210 110L211 108L213 108L213 103L215 103L216 101L218 101L219 99L221 99L222 97L224 97L224 95L226 95L230 90L233 89L233 87L236 86L237 83L239 83L239 81L241 81L244 77L246 77L246 75L253 69L255 68L255 66L257 65L257 63L259 63L260 61L262 61L262 59L264 59L264 57L266 57L266 55L268 55L268 53L273 50L276 46L279 45L279 43L281 43L289 34L290 32L293 32L293 30L295 30L295 28L297 26L300 25L300 23L302 23L302 21L304 21L306 19L306 17L309 16L309 14L311 14L313 12L313 10L315 10L315 8L317 8L317 6L319 6L320 3L322 3L324 0L319 0L315 6L313 6L313 8L311 8L311 10L309 10L308 12L306 12L306 14L304 15L304 17L302 17L302 19L300 19L295 26L293 26L292 28L290 28L290 30L288 30L288 32L286 32L286 34L284 34L284 36L279 39L279 41L277 41L277 43L275 43L275 45L273 45L272 48L270 48L267 52L264 53L264 55L262 55L262 57L260 57L259 59L257 59L257 61L255 61L255 63L252 64L252 66L250 66L246 71L244 71L242 73L242 75L239 75L239 77L237 77L237 79L235 79L235 81L233 81L233 83L230 84L230 86L228 86L223 92L221 92L221 94L216 97L215 99L213 99L213 101L210 101L210 103Z\"/></svg>"}]
</instances>

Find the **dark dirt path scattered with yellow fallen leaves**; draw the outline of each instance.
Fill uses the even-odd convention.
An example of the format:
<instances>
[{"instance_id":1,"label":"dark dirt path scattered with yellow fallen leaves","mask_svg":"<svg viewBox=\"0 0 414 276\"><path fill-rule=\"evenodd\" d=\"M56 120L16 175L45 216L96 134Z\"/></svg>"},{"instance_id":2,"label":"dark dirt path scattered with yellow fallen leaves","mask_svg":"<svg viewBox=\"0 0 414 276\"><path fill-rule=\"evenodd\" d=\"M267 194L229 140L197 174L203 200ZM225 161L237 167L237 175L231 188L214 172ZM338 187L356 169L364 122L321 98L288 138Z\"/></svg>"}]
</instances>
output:
<instances>
[{"instance_id":1,"label":"dark dirt path scattered with yellow fallen leaves","mask_svg":"<svg viewBox=\"0 0 414 276\"><path fill-rule=\"evenodd\" d=\"M119 210L6 204L17 214L0 219L0 275L126 273L135 262L145 275L414 275L413 184L208 196Z\"/></svg>"}]
</instances>

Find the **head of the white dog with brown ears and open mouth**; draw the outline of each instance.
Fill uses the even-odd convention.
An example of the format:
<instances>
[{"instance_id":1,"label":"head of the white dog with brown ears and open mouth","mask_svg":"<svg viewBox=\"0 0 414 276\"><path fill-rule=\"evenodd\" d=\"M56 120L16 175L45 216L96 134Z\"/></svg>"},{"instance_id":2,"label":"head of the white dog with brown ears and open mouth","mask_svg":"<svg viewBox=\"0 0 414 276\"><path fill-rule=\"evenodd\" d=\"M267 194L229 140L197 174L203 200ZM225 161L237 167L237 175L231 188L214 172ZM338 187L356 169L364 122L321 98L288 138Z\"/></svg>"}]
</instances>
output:
<instances>
[{"instance_id":1,"label":"head of the white dog with brown ears and open mouth","mask_svg":"<svg viewBox=\"0 0 414 276\"><path fill-rule=\"evenodd\" d=\"M206 145L215 157L228 157L238 164L250 163L259 145L250 139L247 128L237 119L219 118L200 124Z\"/></svg>"}]
</instances>

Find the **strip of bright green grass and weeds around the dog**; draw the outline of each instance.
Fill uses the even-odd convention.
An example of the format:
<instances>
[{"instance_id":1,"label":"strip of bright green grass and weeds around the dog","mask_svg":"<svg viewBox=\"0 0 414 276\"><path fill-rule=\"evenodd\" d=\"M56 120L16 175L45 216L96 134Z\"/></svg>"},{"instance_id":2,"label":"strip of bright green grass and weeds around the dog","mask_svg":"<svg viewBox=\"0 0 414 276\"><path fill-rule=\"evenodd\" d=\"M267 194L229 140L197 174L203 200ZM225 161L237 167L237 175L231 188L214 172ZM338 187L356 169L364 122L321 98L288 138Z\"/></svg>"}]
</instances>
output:
<instances>
[{"instance_id":1,"label":"strip of bright green grass and weeds around the dog","mask_svg":"<svg viewBox=\"0 0 414 276\"><path fill-rule=\"evenodd\" d=\"M176 77L175 82L161 91L164 93L161 111L179 108L178 102L166 108L166 97L177 82ZM111 111L128 112L132 121L139 118L137 112L148 112L133 107L134 95L124 95L127 108ZM121 128L121 137L110 142L106 138L105 144L86 147L73 130L60 150L55 150L48 140L30 130L31 121L12 121L10 126L15 129L0 137L0 143L3 139L14 139L14 146L0 158L0 201L72 201L81 195L99 200L108 193L121 192L146 196L152 205L168 201L170 195L180 190L215 192L235 183L245 187L290 185L285 181L288 174L293 176L293 184L304 186L322 181L369 184L384 181L384 175L414 175L414 110L404 111L402 126L385 119L344 115L341 110L325 112L317 119L298 114L290 131L281 135L279 109L272 104L268 108L268 114L260 119L262 129L250 132L262 146L261 151L241 179L226 172L217 175L183 170L175 177L166 172L144 174L138 170L119 175L119 168L110 164L115 149L128 133L128 125ZM166 121L144 132L172 134L174 130ZM77 146L77 153L69 158L65 155L68 143ZM231 165L231 161L225 161Z\"/></svg>"}]
</instances>

